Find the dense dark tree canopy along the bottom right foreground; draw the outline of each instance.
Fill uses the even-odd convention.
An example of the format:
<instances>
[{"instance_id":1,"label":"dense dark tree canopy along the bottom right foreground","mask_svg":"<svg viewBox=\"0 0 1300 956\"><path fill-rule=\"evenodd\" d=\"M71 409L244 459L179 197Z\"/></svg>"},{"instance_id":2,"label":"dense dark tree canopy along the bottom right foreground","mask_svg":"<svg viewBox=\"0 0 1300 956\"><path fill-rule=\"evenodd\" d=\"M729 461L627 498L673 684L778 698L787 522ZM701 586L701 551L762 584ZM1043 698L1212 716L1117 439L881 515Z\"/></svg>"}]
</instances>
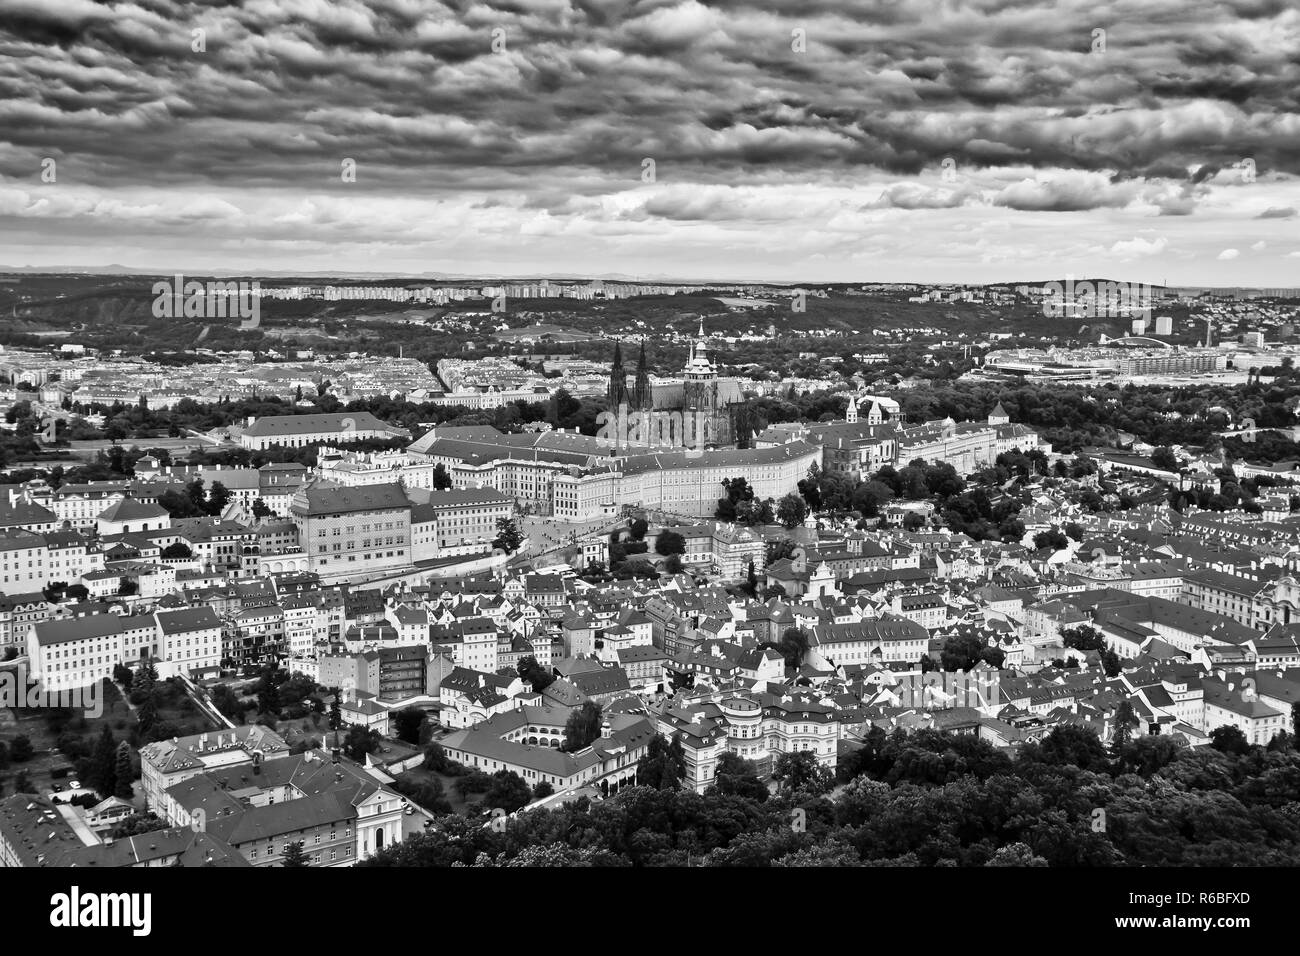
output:
<instances>
[{"instance_id":1,"label":"dense dark tree canopy along the bottom right foreground","mask_svg":"<svg viewBox=\"0 0 1300 956\"><path fill-rule=\"evenodd\" d=\"M776 793L731 756L697 795L659 745L598 803L442 816L363 866L1236 866L1300 864L1300 753L1234 728L1104 748L1058 727L1008 756L974 736L887 736L841 757L838 787L786 761ZM506 771L503 771L506 773Z\"/></svg>"}]
</instances>

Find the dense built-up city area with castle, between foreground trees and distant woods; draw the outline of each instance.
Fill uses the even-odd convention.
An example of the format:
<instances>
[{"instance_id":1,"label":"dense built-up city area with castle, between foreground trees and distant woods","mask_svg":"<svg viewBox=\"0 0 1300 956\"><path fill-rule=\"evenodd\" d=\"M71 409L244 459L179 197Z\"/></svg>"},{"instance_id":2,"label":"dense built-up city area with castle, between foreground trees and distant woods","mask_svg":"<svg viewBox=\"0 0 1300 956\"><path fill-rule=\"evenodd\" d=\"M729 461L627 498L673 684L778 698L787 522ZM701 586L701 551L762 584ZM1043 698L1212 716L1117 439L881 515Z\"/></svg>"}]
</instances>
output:
<instances>
[{"instance_id":1,"label":"dense built-up city area with castle, between foreground trees and distant woods","mask_svg":"<svg viewBox=\"0 0 1300 956\"><path fill-rule=\"evenodd\" d=\"M861 389L746 434L714 345L675 380L616 355L597 436L263 416L211 441L315 463L0 485L0 864L350 866L608 800L664 745L705 793L881 731L1295 730L1294 466Z\"/></svg>"}]
</instances>

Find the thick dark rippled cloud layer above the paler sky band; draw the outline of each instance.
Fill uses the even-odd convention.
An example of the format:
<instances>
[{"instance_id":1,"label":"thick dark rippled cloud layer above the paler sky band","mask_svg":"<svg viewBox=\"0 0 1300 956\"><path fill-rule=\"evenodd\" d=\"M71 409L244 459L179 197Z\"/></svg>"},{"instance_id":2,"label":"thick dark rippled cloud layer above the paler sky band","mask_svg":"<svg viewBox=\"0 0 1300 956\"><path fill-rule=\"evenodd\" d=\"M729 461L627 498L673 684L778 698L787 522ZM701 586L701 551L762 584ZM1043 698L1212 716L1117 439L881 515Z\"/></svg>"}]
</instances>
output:
<instances>
[{"instance_id":1,"label":"thick dark rippled cloud layer above the paler sky band","mask_svg":"<svg viewBox=\"0 0 1300 956\"><path fill-rule=\"evenodd\" d=\"M105 185L157 157L168 178L292 181L313 151L385 187L430 166L618 179L645 155L734 182L949 156L1300 172L1283 3L0 0L0 23L14 153L81 153Z\"/></svg>"}]
</instances>

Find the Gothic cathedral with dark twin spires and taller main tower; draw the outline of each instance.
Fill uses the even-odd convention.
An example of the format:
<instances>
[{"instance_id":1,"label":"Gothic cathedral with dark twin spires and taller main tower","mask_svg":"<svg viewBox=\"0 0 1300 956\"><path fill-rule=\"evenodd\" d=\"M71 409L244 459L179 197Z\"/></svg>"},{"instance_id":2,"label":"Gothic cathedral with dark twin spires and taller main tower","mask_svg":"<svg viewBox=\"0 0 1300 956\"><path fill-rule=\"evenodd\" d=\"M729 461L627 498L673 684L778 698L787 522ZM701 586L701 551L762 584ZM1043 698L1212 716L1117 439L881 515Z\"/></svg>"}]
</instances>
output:
<instances>
[{"instance_id":1,"label":"Gothic cathedral with dark twin spires and taller main tower","mask_svg":"<svg viewBox=\"0 0 1300 956\"><path fill-rule=\"evenodd\" d=\"M625 423L619 429L619 447L724 447L750 437L751 416L741 382L719 377L718 367L708 358L703 321L680 381L650 385L642 342L637 373L628 388L623 347L615 342L606 399L610 410L619 414L620 423Z\"/></svg>"}]
</instances>

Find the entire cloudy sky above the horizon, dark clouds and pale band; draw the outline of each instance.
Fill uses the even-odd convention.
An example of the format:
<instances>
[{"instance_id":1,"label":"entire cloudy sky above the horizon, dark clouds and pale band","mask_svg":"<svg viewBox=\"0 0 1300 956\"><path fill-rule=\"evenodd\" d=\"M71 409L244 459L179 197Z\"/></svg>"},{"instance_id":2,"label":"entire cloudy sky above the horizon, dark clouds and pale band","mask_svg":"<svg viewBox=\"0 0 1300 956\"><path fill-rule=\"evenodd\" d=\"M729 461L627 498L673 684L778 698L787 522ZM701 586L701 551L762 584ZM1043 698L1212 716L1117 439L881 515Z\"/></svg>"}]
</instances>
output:
<instances>
[{"instance_id":1,"label":"entire cloudy sky above the horizon, dark clouds and pale band","mask_svg":"<svg viewBox=\"0 0 1300 956\"><path fill-rule=\"evenodd\" d=\"M4 265L1300 286L1297 209L1295 0L0 0Z\"/></svg>"}]
</instances>

